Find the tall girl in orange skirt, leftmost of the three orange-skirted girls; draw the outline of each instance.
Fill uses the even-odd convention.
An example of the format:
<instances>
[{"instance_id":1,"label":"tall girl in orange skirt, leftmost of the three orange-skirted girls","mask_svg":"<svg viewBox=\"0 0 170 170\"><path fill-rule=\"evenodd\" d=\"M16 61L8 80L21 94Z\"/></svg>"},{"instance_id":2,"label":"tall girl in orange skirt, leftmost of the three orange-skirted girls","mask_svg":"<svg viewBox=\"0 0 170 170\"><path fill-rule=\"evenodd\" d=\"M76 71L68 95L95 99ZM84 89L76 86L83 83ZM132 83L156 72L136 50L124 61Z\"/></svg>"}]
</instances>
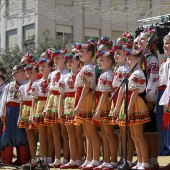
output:
<instances>
[{"instance_id":1,"label":"tall girl in orange skirt, leftmost of the three orange-skirted girls","mask_svg":"<svg viewBox=\"0 0 170 170\"><path fill-rule=\"evenodd\" d=\"M76 101L75 101L75 121L77 124L83 125L83 131L87 143L86 161L81 166L82 169L93 169L100 164L100 137L97 133L97 128L91 123L92 111L94 106L95 89L95 72L92 64L93 56L95 55L95 42L89 39L86 44L77 46L80 50L80 60L84 62L84 66L79 71L75 86Z\"/></svg>"}]
</instances>

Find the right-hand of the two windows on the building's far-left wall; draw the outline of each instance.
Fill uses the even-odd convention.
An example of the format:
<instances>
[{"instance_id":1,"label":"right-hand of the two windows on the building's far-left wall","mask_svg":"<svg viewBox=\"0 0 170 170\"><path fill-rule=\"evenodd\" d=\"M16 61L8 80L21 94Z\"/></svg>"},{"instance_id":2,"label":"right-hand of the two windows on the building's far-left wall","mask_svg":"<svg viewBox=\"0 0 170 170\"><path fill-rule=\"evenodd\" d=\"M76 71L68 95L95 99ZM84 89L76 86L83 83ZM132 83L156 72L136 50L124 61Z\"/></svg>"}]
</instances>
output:
<instances>
[{"instance_id":1,"label":"right-hand of the two windows on the building's far-left wall","mask_svg":"<svg viewBox=\"0 0 170 170\"><path fill-rule=\"evenodd\" d=\"M23 41L33 39L35 36L35 26L34 24L27 25L23 27Z\"/></svg>"}]
</instances>

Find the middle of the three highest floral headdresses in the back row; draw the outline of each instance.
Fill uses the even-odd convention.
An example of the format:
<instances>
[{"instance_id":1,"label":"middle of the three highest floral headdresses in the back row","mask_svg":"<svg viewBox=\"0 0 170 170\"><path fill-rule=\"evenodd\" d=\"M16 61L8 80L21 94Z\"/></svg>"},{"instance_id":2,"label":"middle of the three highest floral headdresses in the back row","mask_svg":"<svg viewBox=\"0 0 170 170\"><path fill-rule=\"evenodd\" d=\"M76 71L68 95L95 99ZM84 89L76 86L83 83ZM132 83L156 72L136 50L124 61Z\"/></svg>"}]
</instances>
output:
<instances>
[{"instance_id":1,"label":"middle of the three highest floral headdresses in the back row","mask_svg":"<svg viewBox=\"0 0 170 170\"><path fill-rule=\"evenodd\" d=\"M124 45L126 45L127 48L131 48L134 40L134 35L132 34L132 32L124 32L122 34L122 38L125 42Z\"/></svg>"}]
</instances>

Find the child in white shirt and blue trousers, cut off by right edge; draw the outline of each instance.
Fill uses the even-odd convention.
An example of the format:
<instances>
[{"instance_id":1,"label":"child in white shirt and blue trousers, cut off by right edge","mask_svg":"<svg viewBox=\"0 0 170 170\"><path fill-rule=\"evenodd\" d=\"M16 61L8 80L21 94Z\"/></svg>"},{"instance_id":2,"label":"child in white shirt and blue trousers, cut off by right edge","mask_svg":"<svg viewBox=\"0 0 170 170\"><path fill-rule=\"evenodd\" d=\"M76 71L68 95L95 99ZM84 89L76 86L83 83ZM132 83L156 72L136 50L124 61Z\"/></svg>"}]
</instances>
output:
<instances>
[{"instance_id":1,"label":"child in white shirt and blue trousers, cut off by right edge","mask_svg":"<svg viewBox=\"0 0 170 170\"><path fill-rule=\"evenodd\" d=\"M169 148L167 143L167 133L169 133L169 129L167 128L168 124L166 124L166 120L168 119L165 118L165 121L163 120L164 109L162 105L159 105L159 101L168 83L168 70L170 63L170 35L166 35L163 41L164 53L167 57L165 57L159 68L158 98L156 102L156 122L159 136L159 154L166 155L169 153L168 150L165 150L165 146L166 148Z\"/></svg>"}]
</instances>

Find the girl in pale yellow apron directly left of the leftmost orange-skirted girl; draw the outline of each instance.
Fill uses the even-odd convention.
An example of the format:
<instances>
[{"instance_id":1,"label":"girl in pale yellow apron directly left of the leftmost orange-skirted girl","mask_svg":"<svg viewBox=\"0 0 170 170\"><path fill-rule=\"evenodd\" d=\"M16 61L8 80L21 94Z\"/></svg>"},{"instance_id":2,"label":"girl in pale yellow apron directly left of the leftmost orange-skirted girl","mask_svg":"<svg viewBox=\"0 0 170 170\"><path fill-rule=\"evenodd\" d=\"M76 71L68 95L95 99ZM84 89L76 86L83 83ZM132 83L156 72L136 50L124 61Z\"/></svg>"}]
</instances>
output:
<instances>
[{"instance_id":1,"label":"girl in pale yellow apron directly left of the leftmost orange-skirted girl","mask_svg":"<svg viewBox=\"0 0 170 170\"><path fill-rule=\"evenodd\" d=\"M74 52L74 53L73 53ZM61 165L60 169L77 168L81 166L81 156L83 155L83 138L82 138L82 126L74 125L74 104L75 104L75 92L74 86L77 73L79 71L80 60L79 56L75 54L76 49L72 50L72 53L65 54L65 61L67 66L71 70L70 73L64 75L59 81L59 108L58 114L60 119L65 118L66 129L69 137L69 149L70 149L70 162ZM62 109L62 103L64 99L64 109ZM62 112L62 110L64 110Z\"/></svg>"}]
</instances>

